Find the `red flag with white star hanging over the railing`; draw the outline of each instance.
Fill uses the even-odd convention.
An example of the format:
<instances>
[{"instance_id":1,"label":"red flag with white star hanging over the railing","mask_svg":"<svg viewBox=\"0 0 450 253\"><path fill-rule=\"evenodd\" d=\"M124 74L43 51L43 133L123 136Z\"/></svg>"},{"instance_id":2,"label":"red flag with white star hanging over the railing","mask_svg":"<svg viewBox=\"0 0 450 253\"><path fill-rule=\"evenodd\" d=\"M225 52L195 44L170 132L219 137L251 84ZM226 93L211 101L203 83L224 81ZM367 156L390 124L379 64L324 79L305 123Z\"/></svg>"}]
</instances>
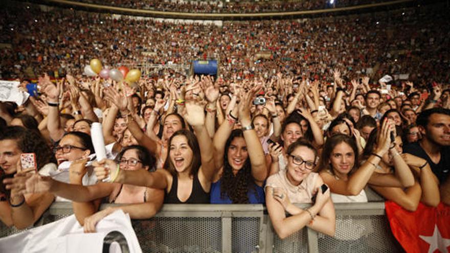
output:
<instances>
[{"instance_id":1,"label":"red flag with white star hanging over the railing","mask_svg":"<svg viewBox=\"0 0 450 253\"><path fill-rule=\"evenodd\" d=\"M385 205L392 234L406 252L450 252L450 206L419 203L415 212L409 212L392 201Z\"/></svg>"}]
</instances>

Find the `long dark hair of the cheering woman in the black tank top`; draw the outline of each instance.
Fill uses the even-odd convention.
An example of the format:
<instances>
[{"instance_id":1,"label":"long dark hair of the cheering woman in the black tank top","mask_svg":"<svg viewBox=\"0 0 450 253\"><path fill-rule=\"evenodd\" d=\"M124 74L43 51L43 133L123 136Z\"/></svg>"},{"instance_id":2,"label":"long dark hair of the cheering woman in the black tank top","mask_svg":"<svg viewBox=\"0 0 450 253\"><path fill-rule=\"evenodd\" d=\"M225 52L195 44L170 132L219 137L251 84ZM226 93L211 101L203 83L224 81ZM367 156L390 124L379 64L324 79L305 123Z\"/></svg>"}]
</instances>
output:
<instances>
[{"instance_id":1,"label":"long dark hair of the cheering woman in the black tank top","mask_svg":"<svg viewBox=\"0 0 450 253\"><path fill-rule=\"evenodd\" d=\"M169 114L170 115L170 114ZM200 156L200 147L198 146L197 139L195 135L186 129L181 129L172 134L172 136L169 139L169 152L168 156L166 158L166 162L164 163L164 169L170 172L172 176L177 176L175 166L172 163L172 159L170 159L170 145L172 144L173 137L177 135L184 135L186 139L188 140L188 145L192 149L193 157L191 162L191 171L190 175L193 175L194 173L197 174L198 169L201 166L201 156Z\"/></svg>"}]
</instances>

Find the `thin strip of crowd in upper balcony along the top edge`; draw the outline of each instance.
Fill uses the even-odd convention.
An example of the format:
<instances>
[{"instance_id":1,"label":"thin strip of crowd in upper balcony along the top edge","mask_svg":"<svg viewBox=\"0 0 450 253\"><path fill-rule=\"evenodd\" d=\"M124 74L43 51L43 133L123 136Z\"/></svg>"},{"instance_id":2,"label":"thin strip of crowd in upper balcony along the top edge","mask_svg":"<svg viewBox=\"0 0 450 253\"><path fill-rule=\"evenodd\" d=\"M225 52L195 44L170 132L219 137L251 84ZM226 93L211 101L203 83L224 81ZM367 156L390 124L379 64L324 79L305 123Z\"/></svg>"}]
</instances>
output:
<instances>
[{"instance_id":1,"label":"thin strip of crowd in upper balcony along the top edge","mask_svg":"<svg viewBox=\"0 0 450 253\"><path fill-rule=\"evenodd\" d=\"M387 2L387 0L290 0L290 1L192 1L192 0L79 0L84 3L95 3L134 9L149 9L156 11L196 12L196 13L260 13L281 11L317 10L325 8L338 8Z\"/></svg>"}]
</instances>

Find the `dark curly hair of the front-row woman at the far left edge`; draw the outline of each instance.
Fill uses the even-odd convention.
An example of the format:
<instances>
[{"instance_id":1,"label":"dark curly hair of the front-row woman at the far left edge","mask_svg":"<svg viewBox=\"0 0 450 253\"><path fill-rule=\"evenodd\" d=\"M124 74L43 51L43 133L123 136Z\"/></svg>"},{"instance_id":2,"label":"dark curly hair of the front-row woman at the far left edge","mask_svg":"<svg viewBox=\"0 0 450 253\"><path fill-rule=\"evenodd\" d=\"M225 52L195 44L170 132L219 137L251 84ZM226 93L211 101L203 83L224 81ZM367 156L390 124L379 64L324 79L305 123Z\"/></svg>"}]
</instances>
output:
<instances>
[{"instance_id":1,"label":"dark curly hair of the front-row woman at the far left edge","mask_svg":"<svg viewBox=\"0 0 450 253\"><path fill-rule=\"evenodd\" d=\"M20 126L9 126L0 135L0 141L15 140L23 153L35 153L37 168L40 169L48 163L55 163L52 149L46 140L36 131L29 131Z\"/></svg>"}]
</instances>

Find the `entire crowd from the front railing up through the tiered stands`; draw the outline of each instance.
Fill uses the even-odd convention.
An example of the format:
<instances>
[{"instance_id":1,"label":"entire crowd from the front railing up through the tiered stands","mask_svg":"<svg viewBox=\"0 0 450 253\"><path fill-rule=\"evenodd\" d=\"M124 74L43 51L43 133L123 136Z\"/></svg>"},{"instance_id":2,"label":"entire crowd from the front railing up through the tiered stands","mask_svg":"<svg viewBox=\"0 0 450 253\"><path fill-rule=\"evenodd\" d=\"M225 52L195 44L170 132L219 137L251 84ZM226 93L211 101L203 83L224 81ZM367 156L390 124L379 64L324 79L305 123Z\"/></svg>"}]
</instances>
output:
<instances>
[{"instance_id":1,"label":"entire crowd from the front railing up through the tiered stands","mask_svg":"<svg viewBox=\"0 0 450 253\"><path fill-rule=\"evenodd\" d=\"M131 19L102 27L99 14L39 15L28 25L2 21L2 30L19 30L7 35L14 47L2 49L2 75L21 77L25 93L28 80L16 70L44 73L24 104L0 103L0 220L8 226L33 225L54 201L73 201L85 232L118 209L147 219L164 203L262 203L281 239L305 226L340 239L333 203L368 202L367 186L408 211L450 205L450 87L439 73L448 55L426 49L448 44L432 35L439 15L409 10L379 30L366 30L381 20L370 15L221 28ZM418 16L420 31L411 21ZM396 28L403 32L392 40L378 33ZM397 68L418 83L391 85L361 71L386 59L383 47L411 44L419 55L381 61L379 74ZM138 59L138 47L153 50L156 62L216 53L223 74L136 83L79 74L93 54L114 64ZM252 63L261 49L273 58ZM45 72L55 66L69 74L52 81ZM98 123L104 159L91 135ZM34 168L25 168L30 153ZM124 205L99 211L100 203Z\"/></svg>"}]
</instances>

